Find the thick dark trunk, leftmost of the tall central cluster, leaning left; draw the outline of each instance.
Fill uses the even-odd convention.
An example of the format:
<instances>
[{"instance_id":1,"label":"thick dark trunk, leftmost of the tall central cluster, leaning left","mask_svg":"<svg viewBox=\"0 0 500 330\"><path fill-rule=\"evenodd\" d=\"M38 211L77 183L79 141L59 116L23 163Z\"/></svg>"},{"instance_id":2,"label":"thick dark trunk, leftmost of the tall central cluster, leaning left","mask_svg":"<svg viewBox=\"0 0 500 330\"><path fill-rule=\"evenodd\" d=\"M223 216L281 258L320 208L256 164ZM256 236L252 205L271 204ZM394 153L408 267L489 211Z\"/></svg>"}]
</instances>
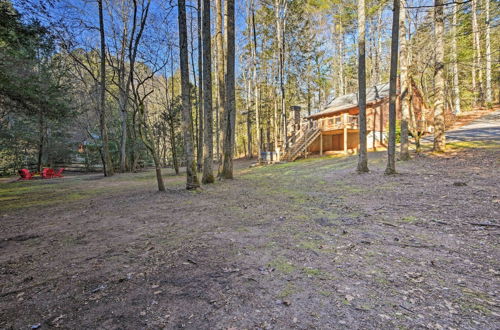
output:
<instances>
[{"instance_id":1,"label":"thick dark trunk, leftmost of the tall central cluster, leaning left","mask_svg":"<svg viewBox=\"0 0 500 330\"><path fill-rule=\"evenodd\" d=\"M186 154L186 189L200 186L196 175L196 163L193 154L193 121L191 118L191 93L189 86L188 41L186 25L186 0L179 0L179 48L182 94L182 130Z\"/></svg>"}]
</instances>

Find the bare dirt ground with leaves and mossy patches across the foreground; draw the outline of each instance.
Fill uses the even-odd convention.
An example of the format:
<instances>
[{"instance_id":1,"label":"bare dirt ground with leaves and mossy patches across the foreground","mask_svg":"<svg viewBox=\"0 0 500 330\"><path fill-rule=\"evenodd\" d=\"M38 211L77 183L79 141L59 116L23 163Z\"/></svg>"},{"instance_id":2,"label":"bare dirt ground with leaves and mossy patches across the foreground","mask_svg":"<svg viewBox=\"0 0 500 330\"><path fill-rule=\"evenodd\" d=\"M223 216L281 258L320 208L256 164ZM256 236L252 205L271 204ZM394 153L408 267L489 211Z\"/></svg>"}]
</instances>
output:
<instances>
[{"instance_id":1,"label":"bare dirt ground with leaves and mossy patches across the foreground","mask_svg":"<svg viewBox=\"0 0 500 330\"><path fill-rule=\"evenodd\" d=\"M498 329L500 145L0 183L0 328Z\"/></svg>"}]
</instances>

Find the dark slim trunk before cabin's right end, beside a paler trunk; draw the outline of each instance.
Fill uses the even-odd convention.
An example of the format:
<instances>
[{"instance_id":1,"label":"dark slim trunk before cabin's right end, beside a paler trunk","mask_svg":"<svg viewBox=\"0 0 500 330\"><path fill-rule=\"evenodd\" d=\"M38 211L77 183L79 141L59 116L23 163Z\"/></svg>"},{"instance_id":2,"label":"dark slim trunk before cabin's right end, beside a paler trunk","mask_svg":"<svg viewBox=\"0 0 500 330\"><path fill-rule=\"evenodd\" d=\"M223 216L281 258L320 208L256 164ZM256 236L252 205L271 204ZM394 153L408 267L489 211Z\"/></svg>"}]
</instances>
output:
<instances>
[{"instance_id":1,"label":"dark slim trunk before cabin's right end, beside a paler trunk","mask_svg":"<svg viewBox=\"0 0 500 330\"><path fill-rule=\"evenodd\" d=\"M396 173L396 88L398 77L399 2L400 0L394 0L392 17L391 70L389 74L389 143L385 174Z\"/></svg>"}]
</instances>

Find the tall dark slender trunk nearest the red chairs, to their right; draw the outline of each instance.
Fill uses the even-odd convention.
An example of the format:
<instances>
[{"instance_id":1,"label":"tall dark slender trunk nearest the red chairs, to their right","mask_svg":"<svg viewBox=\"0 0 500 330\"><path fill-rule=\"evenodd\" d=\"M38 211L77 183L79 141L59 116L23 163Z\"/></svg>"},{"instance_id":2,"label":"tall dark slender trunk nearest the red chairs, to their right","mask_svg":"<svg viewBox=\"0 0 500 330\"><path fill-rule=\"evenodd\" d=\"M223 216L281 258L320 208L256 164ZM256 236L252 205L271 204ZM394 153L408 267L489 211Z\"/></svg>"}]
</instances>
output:
<instances>
[{"instance_id":1,"label":"tall dark slender trunk nearest the red chairs, to their right","mask_svg":"<svg viewBox=\"0 0 500 330\"><path fill-rule=\"evenodd\" d=\"M99 6L99 34L101 42L100 76L99 86L99 129L102 139L102 154L104 176L113 175L113 164L109 154L108 128L106 125L106 39L104 36L104 16L102 0L97 1Z\"/></svg>"}]
</instances>

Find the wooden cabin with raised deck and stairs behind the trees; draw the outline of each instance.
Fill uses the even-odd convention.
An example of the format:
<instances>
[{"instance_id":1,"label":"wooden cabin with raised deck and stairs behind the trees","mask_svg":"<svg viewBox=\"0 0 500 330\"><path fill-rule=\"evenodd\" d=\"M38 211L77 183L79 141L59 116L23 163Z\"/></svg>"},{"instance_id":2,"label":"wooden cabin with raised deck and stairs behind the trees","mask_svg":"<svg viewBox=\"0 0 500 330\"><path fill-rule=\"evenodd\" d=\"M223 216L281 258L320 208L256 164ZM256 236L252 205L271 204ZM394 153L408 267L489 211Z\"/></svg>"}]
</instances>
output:
<instances>
[{"instance_id":1,"label":"wooden cabin with raised deck and stairs behind the trees","mask_svg":"<svg viewBox=\"0 0 500 330\"><path fill-rule=\"evenodd\" d=\"M412 121L427 130L430 113L422 94L412 83L411 106L416 118ZM398 91L399 96L399 91ZM294 110L294 109L292 109ZM401 118L399 97L396 102L397 119ZM322 111L297 119L289 129L284 160L293 161L311 153L355 153L359 148L358 93L335 98ZM297 118L300 116L295 116ZM368 149L385 147L389 126L389 83L366 90L366 121Z\"/></svg>"}]
</instances>

